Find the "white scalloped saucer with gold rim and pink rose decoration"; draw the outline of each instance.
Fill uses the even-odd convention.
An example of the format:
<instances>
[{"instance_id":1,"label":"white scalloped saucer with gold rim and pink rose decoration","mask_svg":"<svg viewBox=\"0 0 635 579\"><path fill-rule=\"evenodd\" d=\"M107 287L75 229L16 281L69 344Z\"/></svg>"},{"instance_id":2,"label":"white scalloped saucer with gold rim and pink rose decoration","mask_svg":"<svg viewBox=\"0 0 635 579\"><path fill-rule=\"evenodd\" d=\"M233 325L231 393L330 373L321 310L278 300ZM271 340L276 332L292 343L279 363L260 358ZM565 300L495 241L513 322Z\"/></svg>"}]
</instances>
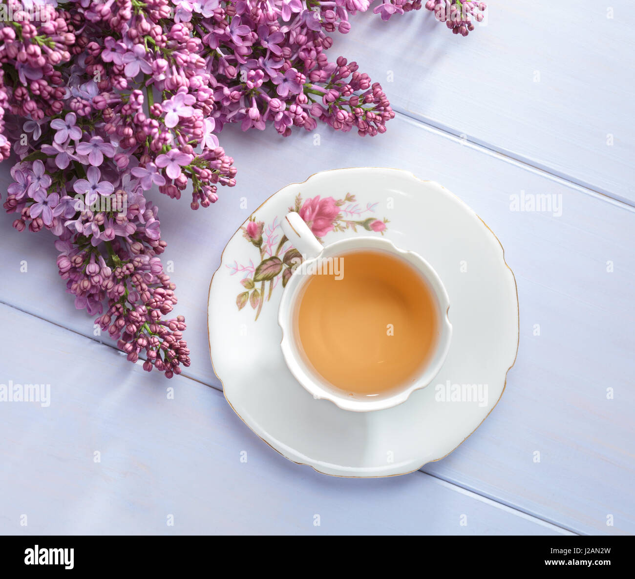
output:
<instances>
[{"instance_id":1,"label":"white scalloped saucer with gold rim and pink rose decoration","mask_svg":"<svg viewBox=\"0 0 635 579\"><path fill-rule=\"evenodd\" d=\"M294 209L326 245L384 236L443 280L450 351L403 404L342 410L286 367L277 310L301 257L279 223ZM208 331L225 398L274 450L333 476L394 476L448 455L495 407L518 351L518 294L497 237L441 185L397 169L335 169L274 193L236 231L210 283Z\"/></svg>"}]
</instances>

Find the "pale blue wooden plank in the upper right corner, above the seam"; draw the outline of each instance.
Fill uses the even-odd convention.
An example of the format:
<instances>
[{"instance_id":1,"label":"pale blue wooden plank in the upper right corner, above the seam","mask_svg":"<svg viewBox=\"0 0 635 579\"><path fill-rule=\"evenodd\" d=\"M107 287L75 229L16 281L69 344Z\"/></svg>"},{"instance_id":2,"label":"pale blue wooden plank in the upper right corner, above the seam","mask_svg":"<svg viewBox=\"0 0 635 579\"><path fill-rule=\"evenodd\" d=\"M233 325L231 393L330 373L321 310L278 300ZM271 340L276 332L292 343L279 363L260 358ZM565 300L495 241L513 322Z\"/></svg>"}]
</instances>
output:
<instances>
[{"instance_id":1,"label":"pale blue wooden plank in the upper right corner, above the seam","mask_svg":"<svg viewBox=\"0 0 635 579\"><path fill-rule=\"evenodd\" d=\"M425 11L357 15L331 53L356 60L395 110L635 204L632 3L487 4L465 38Z\"/></svg>"}]
</instances>

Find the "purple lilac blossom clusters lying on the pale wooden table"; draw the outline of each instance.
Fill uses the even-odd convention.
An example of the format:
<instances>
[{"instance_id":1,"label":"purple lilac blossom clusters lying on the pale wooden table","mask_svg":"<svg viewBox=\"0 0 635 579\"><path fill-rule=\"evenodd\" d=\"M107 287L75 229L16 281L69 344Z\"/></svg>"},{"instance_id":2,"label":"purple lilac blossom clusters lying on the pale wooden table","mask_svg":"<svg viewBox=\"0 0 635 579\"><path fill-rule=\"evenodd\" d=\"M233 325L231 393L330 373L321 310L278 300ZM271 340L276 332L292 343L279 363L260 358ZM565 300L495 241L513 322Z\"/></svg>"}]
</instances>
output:
<instances>
[{"instance_id":1,"label":"purple lilac blossom clusters lying on the pale wooden table","mask_svg":"<svg viewBox=\"0 0 635 579\"><path fill-rule=\"evenodd\" d=\"M39 21L22 11L0 23L0 160L18 157L4 209L18 231L58 237L76 307L99 316L128 360L166 377L189 365L189 349L183 316L168 317L175 285L144 191L178 199L190 188L192 209L210 207L220 186L236 184L218 141L229 123L282 136L318 122L384 133L394 117L384 91L356 62L329 60L333 34L372 4L382 18L425 6L464 36L485 10L471 0L449 10L440 0L311 10L302 0L37 1Z\"/></svg>"}]
</instances>

